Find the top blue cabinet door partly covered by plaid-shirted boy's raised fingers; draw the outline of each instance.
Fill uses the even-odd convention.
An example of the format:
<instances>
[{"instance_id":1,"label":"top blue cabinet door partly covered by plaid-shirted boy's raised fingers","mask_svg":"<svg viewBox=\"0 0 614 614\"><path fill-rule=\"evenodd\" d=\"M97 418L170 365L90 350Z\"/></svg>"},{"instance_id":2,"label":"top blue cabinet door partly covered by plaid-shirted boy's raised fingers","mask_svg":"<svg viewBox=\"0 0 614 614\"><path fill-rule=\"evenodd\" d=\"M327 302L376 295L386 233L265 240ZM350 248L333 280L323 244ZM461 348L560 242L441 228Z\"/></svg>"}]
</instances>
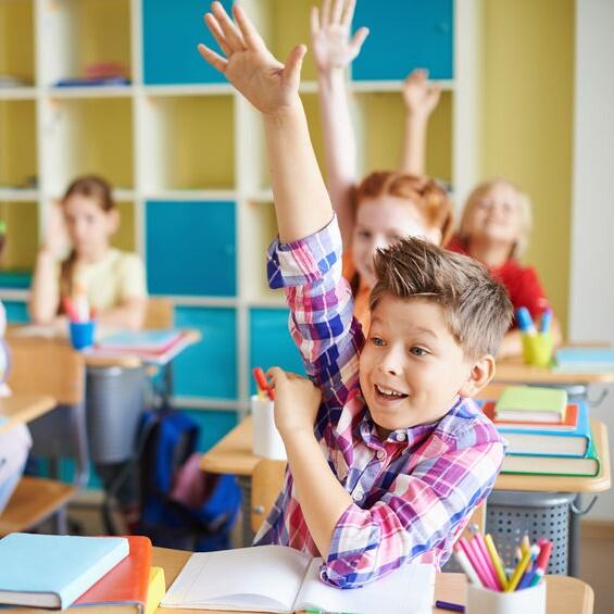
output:
<instances>
[{"instance_id":1,"label":"top blue cabinet door partly covered by plaid-shirted boy's raised fingers","mask_svg":"<svg viewBox=\"0 0 614 614\"><path fill-rule=\"evenodd\" d=\"M222 0L229 11L230 0ZM203 15L202 0L142 0L143 82L147 85L224 83L226 77L197 51L204 42L220 51Z\"/></svg>"}]
</instances>

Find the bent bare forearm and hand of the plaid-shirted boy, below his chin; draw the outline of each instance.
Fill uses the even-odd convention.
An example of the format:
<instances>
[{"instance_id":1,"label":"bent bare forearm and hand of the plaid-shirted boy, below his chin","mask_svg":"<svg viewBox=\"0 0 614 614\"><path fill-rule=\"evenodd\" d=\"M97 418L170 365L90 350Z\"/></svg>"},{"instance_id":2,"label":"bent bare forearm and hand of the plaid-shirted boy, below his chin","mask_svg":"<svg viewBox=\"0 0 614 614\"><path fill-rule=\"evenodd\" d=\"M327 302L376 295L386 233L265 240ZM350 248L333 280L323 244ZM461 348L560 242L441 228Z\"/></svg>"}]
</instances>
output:
<instances>
[{"instance_id":1,"label":"bent bare forearm and hand of the plaid-shirted boy, below his chin","mask_svg":"<svg viewBox=\"0 0 614 614\"><path fill-rule=\"evenodd\" d=\"M321 391L309 379L279 367L268 376L275 386L275 425L286 447L297 499L313 541L324 560L339 518L353 503L330 471L314 436Z\"/></svg>"}]
</instances>

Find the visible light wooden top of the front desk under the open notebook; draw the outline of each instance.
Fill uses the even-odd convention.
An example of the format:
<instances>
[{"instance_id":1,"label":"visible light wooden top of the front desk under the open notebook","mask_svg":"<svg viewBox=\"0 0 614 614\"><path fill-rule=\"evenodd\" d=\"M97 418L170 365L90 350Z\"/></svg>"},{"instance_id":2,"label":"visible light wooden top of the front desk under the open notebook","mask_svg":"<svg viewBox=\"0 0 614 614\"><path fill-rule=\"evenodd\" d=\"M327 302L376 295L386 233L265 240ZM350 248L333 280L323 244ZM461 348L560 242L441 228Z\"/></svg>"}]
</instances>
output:
<instances>
[{"instance_id":1,"label":"visible light wooden top of the front desk under the open notebook","mask_svg":"<svg viewBox=\"0 0 614 614\"><path fill-rule=\"evenodd\" d=\"M166 588L177 577L190 556L184 550L153 549L153 565L164 568ZM591 614L594 596L592 589L581 580L567 576L546 576L548 614ZM466 579L462 574L437 574L435 599L465 603ZM109 609L112 614L112 609ZM222 614L220 610L208 610L211 614ZM444 614L447 611L434 607L433 612ZM193 614L193 610L158 609L159 614ZM249 614L249 613L248 613ZM252 613L254 614L254 613ZM449 613L448 613L449 614Z\"/></svg>"}]
</instances>

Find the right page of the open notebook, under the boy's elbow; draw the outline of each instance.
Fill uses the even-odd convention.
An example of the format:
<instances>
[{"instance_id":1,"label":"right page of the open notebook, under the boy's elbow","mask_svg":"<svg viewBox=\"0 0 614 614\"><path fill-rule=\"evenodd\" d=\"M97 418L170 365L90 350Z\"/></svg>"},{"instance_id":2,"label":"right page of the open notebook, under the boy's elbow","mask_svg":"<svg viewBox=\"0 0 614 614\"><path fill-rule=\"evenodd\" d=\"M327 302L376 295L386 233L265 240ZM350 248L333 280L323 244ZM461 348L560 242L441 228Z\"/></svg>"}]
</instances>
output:
<instances>
[{"instance_id":1,"label":"right page of the open notebook, under the boy's elbow","mask_svg":"<svg viewBox=\"0 0 614 614\"><path fill-rule=\"evenodd\" d=\"M308 607L353 614L430 614L435 594L435 567L404 565L361 588L340 590L319 579L322 559L314 559L297 597L295 610Z\"/></svg>"}]
</instances>

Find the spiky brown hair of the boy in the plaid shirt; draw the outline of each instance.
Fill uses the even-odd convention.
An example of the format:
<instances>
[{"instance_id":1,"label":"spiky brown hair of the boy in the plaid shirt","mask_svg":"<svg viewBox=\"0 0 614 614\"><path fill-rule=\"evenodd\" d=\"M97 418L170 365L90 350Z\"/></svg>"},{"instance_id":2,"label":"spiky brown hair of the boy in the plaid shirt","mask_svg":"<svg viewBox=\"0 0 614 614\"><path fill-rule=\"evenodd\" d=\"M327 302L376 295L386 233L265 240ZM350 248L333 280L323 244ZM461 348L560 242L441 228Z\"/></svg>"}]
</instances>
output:
<instances>
[{"instance_id":1,"label":"spiky brown hair of the boy in the plaid shirt","mask_svg":"<svg viewBox=\"0 0 614 614\"><path fill-rule=\"evenodd\" d=\"M433 301L443 308L448 329L465 358L497 354L513 309L503 285L479 262L409 237L377 252L375 275L372 311L384 295Z\"/></svg>"}]
</instances>

